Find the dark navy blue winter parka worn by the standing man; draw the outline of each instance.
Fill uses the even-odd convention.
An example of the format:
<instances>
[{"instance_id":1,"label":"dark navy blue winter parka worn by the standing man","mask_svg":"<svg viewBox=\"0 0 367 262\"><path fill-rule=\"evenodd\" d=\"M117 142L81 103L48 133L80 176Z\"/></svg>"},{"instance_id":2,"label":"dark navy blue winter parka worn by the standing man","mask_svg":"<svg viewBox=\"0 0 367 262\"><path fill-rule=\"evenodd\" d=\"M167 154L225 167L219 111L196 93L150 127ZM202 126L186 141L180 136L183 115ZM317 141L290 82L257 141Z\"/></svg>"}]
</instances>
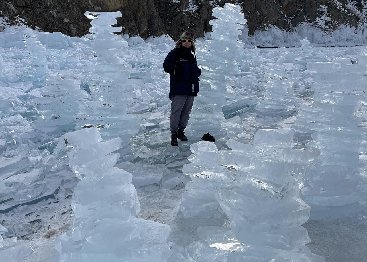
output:
<instances>
[{"instance_id":1,"label":"dark navy blue winter parka worn by the standing man","mask_svg":"<svg viewBox=\"0 0 367 262\"><path fill-rule=\"evenodd\" d=\"M163 69L170 74L170 99L173 95L197 96L201 70L190 48L181 46L168 52Z\"/></svg>"}]
</instances>

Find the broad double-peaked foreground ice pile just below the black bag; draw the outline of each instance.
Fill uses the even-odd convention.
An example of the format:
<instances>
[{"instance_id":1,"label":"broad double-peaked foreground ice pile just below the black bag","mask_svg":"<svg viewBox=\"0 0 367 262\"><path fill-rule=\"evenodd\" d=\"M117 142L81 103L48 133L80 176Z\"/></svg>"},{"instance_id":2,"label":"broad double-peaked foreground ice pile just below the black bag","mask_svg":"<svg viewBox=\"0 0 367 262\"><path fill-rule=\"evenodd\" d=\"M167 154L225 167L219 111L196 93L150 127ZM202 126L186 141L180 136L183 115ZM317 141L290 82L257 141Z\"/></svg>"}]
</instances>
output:
<instances>
[{"instance_id":1,"label":"broad double-peaked foreground ice pile just below the black bag","mask_svg":"<svg viewBox=\"0 0 367 262\"><path fill-rule=\"evenodd\" d=\"M182 211L186 216L201 212L203 219L219 204L230 229L199 227L202 240L186 247L189 261L324 261L305 246L310 239L301 225L310 207L299 196L300 181L319 151L294 149L292 141L289 128L260 129L253 145L230 139L232 150L218 151L206 141L190 147L192 164L183 172L193 180L182 196Z\"/></svg>"}]
</instances>

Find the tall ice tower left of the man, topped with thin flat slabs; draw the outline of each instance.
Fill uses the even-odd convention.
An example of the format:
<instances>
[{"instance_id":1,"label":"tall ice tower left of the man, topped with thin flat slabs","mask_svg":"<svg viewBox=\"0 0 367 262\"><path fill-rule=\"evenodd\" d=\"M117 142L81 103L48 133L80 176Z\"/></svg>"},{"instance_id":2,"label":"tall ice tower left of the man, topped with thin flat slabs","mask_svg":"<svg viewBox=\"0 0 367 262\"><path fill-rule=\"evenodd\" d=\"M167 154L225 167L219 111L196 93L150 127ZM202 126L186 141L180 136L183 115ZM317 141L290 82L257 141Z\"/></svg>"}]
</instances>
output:
<instances>
[{"instance_id":1,"label":"tall ice tower left of the man, topped with thin flat slabs","mask_svg":"<svg viewBox=\"0 0 367 262\"><path fill-rule=\"evenodd\" d=\"M132 92L132 84L140 84L143 80L128 80L132 66L118 56L127 42L113 34L121 32L122 28L111 25L117 23L116 17L121 17L121 12L86 12L85 15L92 19L91 46L97 56L97 65L84 67L93 101L87 101L81 113L75 115L80 121L76 129L98 127L103 138L121 137L126 146L131 135L139 130L140 117L128 115L125 105L139 102Z\"/></svg>"}]
</instances>

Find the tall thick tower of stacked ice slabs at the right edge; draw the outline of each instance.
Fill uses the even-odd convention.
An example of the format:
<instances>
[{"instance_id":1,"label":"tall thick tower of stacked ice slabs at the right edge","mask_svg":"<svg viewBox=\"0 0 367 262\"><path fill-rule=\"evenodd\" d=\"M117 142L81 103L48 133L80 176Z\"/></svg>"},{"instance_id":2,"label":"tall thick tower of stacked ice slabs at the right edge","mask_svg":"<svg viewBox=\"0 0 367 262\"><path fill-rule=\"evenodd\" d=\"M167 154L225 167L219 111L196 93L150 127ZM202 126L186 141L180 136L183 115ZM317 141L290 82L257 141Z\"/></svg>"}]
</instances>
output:
<instances>
[{"instance_id":1,"label":"tall thick tower of stacked ice slabs at the right edge","mask_svg":"<svg viewBox=\"0 0 367 262\"><path fill-rule=\"evenodd\" d=\"M366 208L359 175L366 128L359 127L363 119L355 112L366 104L361 91L367 91L367 66L337 58L335 62L308 63L307 69L317 72L311 87L314 101L294 126L301 126L302 138L312 133L313 141L306 146L320 149L321 165L310 172L302 199L312 207L311 219L350 215Z\"/></svg>"}]
</instances>

